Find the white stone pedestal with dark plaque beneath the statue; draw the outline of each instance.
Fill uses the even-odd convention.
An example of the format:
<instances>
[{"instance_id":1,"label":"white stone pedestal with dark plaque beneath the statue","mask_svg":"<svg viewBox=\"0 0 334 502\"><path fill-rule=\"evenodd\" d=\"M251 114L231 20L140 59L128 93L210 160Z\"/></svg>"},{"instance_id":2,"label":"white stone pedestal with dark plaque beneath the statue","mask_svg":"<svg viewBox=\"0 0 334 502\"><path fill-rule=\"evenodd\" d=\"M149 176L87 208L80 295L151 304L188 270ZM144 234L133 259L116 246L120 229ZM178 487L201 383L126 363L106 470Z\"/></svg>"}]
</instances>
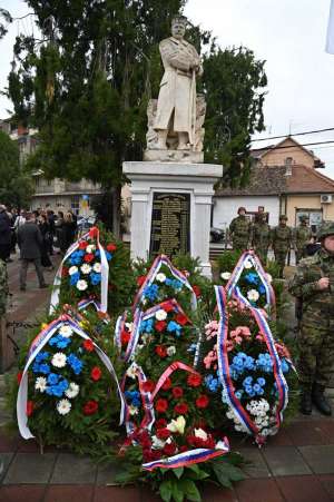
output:
<instances>
[{"instance_id":1,"label":"white stone pedestal with dark plaque beneath the statue","mask_svg":"<svg viewBox=\"0 0 334 502\"><path fill-rule=\"evenodd\" d=\"M209 232L214 184L223 166L124 163L131 181L131 258L189 253L212 277Z\"/></svg>"}]
</instances>

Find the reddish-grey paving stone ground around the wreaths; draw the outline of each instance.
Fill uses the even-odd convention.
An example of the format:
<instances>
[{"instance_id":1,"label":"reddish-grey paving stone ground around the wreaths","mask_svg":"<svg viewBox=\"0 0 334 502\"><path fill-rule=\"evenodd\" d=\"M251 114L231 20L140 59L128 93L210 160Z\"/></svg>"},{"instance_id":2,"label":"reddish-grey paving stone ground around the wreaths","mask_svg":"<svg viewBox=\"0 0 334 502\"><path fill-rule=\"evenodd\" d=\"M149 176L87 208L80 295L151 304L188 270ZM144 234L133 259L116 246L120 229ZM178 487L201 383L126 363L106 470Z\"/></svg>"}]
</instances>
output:
<instances>
[{"instance_id":1,"label":"reddish-grey paving stone ground around the wreaths","mask_svg":"<svg viewBox=\"0 0 334 502\"><path fill-rule=\"evenodd\" d=\"M58 264L59 257L55 257ZM288 274L292 269L287 270ZM48 283L51 273L46 273ZM9 265L13 294L11 319L36 322L49 301L40 291L35 270L28 274L27 292L19 292L18 262ZM286 314L294 325L293 308ZM17 329L16 342L24 339ZM4 390L0 376L0 393ZM332 396L334 393L332 392ZM0 425L6 419L0 403ZM314 412L299 415L262 449L249 440L230 437L232 449L250 461L245 481L233 490L215 486L203 493L204 502L327 502L334 501L334 419ZM40 454L33 440L10 436L0 426L0 502L158 502L148 489L115 485L117 465L96 465L88 457L58 449Z\"/></svg>"}]
</instances>

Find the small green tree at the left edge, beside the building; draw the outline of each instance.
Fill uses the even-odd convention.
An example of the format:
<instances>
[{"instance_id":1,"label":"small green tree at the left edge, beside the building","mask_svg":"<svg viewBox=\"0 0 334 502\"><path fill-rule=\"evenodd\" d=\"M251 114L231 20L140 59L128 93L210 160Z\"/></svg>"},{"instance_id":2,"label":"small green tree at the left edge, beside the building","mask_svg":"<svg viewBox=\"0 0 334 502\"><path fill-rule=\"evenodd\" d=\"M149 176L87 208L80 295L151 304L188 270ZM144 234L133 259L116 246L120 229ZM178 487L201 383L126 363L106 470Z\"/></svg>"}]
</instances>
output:
<instances>
[{"instance_id":1,"label":"small green tree at the left edge, beside the building","mask_svg":"<svg viewBox=\"0 0 334 502\"><path fill-rule=\"evenodd\" d=\"M0 203L18 208L28 207L33 194L31 176L20 166L16 141L0 131Z\"/></svg>"}]
</instances>

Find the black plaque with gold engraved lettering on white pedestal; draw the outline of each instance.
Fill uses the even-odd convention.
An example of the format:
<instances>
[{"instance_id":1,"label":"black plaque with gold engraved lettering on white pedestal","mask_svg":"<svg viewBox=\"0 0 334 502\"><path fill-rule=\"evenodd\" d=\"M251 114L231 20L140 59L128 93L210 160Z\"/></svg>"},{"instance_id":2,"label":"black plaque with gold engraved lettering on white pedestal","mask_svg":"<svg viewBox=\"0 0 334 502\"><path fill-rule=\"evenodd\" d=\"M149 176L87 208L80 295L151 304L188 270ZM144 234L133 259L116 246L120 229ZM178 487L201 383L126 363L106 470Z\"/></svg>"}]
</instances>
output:
<instances>
[{"instance_id":1,"label":"black plaque with gold engraved lettering on white pedestal","mask_svg":"<svg viewBox=\"0 0 334 502\"><path fill-rule=\"evenodd\" d=\"M155 191L149 254L177 253L190 253L190 194Z\"/></svg>"}]
</instances>

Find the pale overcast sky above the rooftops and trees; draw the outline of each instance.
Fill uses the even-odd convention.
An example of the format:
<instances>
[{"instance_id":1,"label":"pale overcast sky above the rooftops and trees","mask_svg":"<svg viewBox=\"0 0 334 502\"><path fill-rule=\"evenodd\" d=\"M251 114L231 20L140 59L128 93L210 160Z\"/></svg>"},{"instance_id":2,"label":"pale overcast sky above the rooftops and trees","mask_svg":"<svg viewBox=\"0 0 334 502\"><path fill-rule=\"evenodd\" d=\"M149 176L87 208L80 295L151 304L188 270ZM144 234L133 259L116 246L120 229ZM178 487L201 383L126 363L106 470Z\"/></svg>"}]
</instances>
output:
<instances>
[{"instance_id":1,"label":"pale overcast sky above the rooftops and trees","mask_svg":"<svg viewBox=\"0 0 334 502\"><path fill-rule=\"evenodd\" d=\"M334 128L334 55L325 52L331 0L188 0L185 14L210 30L222 48L245 46L265 60L268 77L264 114L267 138ZM22 0L0 0L13 17L28 12ZM12 46L19 30L31 32L30 18L10 26L0 41L0 90L7 86ZM0 96L0 118L10 102ZM302 144L334 141L334 130L296 137ZM278 142L254 141L254 147ZM333 145L310 146L334 178Z\"/></svg>"}]
</instances>

